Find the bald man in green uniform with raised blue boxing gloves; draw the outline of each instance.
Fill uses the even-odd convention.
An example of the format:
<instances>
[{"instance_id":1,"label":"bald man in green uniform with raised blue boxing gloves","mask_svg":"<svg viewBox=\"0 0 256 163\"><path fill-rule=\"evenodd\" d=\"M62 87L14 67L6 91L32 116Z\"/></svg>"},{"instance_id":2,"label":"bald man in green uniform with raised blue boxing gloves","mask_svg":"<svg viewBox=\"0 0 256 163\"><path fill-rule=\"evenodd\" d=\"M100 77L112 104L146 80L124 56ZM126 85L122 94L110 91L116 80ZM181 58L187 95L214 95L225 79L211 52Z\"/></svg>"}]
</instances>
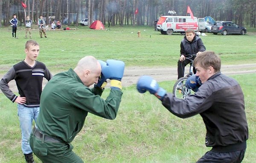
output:
<instances>
[{"instance_id":1,"label":"bald man in green uniform with raised blue boxing gloves","mask_svg":"<svg viewBox=\"0 0 256 163\"><path fill-rule=\"evenodd\" d=\"M125 64L109 59L97 61L93 56L80 59L75 69L58 73L41 94L41 106L30 146L43 163L83 163L71 142L84 126L88 113L115 119L122 98L121 79ZM111 90L101 98L106 80ZM95 84L94 84L95 83ZM90 86L94 84L94 87Z\"/></svg>"}]
</instances>

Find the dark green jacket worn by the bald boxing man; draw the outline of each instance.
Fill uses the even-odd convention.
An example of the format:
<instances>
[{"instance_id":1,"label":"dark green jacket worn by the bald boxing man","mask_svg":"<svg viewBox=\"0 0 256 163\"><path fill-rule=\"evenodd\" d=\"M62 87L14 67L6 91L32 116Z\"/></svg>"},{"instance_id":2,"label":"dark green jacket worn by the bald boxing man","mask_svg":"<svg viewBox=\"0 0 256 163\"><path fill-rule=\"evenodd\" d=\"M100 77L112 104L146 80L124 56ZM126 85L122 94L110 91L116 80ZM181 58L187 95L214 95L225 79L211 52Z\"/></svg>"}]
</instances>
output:
<instances>
[{"instance_id":1,"label":"dark green jacket worn by the bald boxing man","mask_svg":"<svg viewBox=\"0 0 256 163\"><path fill-rule=\"evenodd\" d=\"M116 118L122 92L111 89L106 100L100 97L102 92L100 88L84 86L72 69L56 74L41 94L36 126L46 135L72 142L88 112L107 119Z\"/></svg>"}]
</instances>

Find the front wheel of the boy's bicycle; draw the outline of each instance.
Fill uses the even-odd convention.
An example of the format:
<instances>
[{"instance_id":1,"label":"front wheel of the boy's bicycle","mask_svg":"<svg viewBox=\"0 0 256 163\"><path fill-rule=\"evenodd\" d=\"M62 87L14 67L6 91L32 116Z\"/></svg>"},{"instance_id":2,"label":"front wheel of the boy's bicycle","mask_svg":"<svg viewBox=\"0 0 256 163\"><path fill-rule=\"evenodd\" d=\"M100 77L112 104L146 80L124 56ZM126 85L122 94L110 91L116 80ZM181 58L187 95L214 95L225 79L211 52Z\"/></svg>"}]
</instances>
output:
<instances>
[{"instance_id":1,"label":"front wheel of the boy's bicycle","mask_svg":"<svg viewBox=\"0 0 256 163\"><path fill-rule=\"evenodd\" d=\"M190 94L194 93L191 89L185 86L186 80L188 77L182 77L175 82L172 93L175 97L180 99L185 99Z\"/></svg>"}]
</instances>

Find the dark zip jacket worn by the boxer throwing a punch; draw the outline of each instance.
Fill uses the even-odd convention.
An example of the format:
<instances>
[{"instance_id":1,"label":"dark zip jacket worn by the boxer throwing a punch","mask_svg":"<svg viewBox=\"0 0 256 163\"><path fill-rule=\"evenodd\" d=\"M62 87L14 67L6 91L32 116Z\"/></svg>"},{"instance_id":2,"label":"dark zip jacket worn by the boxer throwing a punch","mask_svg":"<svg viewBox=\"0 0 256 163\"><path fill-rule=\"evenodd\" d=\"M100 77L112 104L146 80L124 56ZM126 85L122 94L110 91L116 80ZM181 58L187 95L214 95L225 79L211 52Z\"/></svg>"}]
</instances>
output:
<instances>
[{"instance_id":1,"label":"dark zip jacket worn by the boxer throwing a punch","mask_svg":"<svg viewBox=\"0 0 256 163\"><path fill-rule=\"evenodd\" d=\"M206 146L213 149L221 146L224 152L246 148L248 126L244 112L244 94L236 80L216 73L199 87L198 92L185 100L168 93L162 104L180 118L200 114L207 130ZM242 146L225 149L243 142Z\"/></svg>"}]
</instances>

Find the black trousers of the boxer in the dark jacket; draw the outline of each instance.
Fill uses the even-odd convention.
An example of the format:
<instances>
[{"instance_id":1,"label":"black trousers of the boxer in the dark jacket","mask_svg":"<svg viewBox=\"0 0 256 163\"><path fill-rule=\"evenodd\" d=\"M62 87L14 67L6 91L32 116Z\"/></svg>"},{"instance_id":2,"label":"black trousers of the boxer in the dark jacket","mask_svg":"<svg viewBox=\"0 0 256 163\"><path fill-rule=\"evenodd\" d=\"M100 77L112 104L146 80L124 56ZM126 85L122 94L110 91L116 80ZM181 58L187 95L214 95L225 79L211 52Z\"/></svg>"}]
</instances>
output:
<instances>
[{"instance_id":1,"label":"black trousers of the boxer in the dark jacket","mask_svg":"<svg viewBox=\"0 0 256 163\"><path fill-rule=\"evenodd\" d=\"M236 152L212 152L208 151L197 163L241 163L244 159L245 149Z\"/></svg>"}]
</instances>

